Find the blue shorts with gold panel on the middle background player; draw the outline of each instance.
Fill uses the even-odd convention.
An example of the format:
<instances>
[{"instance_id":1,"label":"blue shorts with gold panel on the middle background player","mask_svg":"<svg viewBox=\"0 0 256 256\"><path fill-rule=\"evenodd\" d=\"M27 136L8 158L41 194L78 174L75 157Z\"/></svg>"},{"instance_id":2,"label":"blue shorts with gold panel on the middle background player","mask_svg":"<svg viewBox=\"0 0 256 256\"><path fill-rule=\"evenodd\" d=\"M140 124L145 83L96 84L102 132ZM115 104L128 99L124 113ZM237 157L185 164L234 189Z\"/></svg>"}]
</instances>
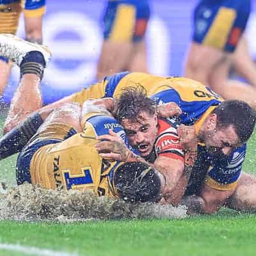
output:
<instances>
[{"instance_id":1,"label":"blue shorts with gold panel on the middle background player","mask_svg":"<svg viewBox=\"0 0 256 256\"><path fill-rule=\"evenodd\" d=\"M138 42L145 36L150 7L148 0L108 1L104 11L104 39Z\"/></svg>"}]
</instances>

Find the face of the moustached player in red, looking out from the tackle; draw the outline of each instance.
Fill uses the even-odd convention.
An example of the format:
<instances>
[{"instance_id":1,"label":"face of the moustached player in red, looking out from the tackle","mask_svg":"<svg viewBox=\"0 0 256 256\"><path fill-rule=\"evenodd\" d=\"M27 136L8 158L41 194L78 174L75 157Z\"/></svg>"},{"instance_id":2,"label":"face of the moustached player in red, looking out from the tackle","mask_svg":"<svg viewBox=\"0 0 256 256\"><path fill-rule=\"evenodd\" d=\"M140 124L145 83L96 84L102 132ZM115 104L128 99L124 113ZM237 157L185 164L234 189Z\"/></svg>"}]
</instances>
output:
<instances>
[{"instance_id":1,"label":"face of the moustached player in red, looking out from the tackle","mask_svg":"<svg viewBox=\"0 0 256 256\"><path fill-rule=\"evenodd\" d=\"M141 111L138 121L131 122L131 120L125 118L122 121L122 125L130 145L138 148L142 157L147 157L152 151L156 140L157 115L149 115Z\"/></svg>"}]
</instances>

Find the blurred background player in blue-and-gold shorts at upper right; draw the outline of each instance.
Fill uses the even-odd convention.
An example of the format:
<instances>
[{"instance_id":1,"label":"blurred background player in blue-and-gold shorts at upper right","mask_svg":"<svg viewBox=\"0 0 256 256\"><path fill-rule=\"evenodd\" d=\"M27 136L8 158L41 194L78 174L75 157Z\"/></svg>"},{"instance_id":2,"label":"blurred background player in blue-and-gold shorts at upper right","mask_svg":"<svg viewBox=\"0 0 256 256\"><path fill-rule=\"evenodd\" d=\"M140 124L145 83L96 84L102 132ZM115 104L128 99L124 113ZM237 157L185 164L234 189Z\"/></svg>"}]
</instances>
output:
<instances>
[{"instance_id":1,"label":"blurred background player in blue-and-gold shorts at upper right","mask_svg":"<svg viewBox=\"0 0 256 256\"><path fill-rule=\"evenodd\" d=\"M243 36L250 11L250 0L199 1L185 76L209 84L225 99L241 99L255 106L256 69ZM237 54L234 54L236 48ZM232 61L253 86L228 80Z\"/></svg>"}]
</instances>

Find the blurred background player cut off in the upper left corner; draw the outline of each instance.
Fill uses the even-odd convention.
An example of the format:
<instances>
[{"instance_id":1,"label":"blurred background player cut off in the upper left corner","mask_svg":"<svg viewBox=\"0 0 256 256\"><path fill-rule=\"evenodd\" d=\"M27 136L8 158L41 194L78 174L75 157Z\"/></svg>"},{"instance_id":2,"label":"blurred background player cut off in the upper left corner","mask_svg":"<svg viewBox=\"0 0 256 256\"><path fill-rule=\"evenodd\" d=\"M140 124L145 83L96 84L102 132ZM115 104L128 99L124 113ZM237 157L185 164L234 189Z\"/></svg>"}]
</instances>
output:
<instances>
[{"instance_id":1,"label":"blurred background player cut off in the upper left corner","mask_svg":"<svg viewBox=\"0 0 256 256\"><path fill-rule=\"evenodd\" d=\"M1 0L0 33L15 35L19 25L20 13L24 12L26 40L42 44L42 19L45 13L45 0ZM11 63L0 56L0 95L8 83Z\"/></svg>"}]
</instances>

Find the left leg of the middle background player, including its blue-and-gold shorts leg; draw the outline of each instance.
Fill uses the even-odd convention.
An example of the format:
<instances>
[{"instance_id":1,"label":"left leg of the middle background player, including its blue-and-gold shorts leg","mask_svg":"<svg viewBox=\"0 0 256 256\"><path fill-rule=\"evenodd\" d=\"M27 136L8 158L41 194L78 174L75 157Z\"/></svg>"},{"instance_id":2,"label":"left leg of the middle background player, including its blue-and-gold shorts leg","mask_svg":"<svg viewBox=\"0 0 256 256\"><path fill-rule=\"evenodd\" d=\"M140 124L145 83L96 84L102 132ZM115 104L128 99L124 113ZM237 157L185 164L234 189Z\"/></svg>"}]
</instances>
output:
<instances>
[{"instance_id":1,"label":"left leg of the middle background player, including its blue-and-gold shorts leg","mask_svg":"<svg viewBox=\"0 0 256 256\"><path fill-rule=\"evenodd\" d=\"M132 51L136 22L134 4L109 1L104 13L104 42L97 67L97 79L124 71Z\"/></svg>"}]
</instances>

